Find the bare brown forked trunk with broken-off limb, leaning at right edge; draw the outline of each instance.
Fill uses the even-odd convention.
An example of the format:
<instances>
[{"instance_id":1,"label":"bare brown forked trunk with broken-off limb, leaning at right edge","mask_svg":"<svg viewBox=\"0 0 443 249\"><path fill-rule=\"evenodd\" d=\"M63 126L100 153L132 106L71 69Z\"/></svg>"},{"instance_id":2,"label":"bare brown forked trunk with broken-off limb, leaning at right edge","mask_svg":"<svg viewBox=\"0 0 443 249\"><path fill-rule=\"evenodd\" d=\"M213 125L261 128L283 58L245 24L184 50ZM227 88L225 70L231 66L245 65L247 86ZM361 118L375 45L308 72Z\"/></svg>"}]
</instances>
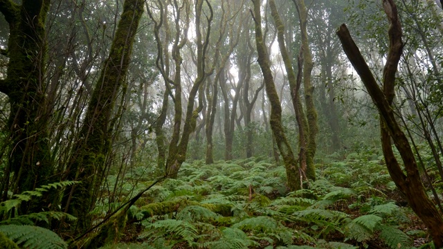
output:
<instances>
[{"instance_id":1,"label":"bare brown forked trunk with broken-off limb, leaning at right edge","mask_svg":"<svg viewBox=\"0 0 443 249\"><path fill-rule=\"evenodd\" d=\"M357 73L359 73L363 84L365 84L372 101L379 110L381 122L381 145L386 160L389 174L395 185L404 193L406 199L415 214L422 219L423 223L433 237L435 248L443 247L443 219L434 203L428 198L424 188L417 163L406 138L392 109L392 100L395 90L395 73L401 57L403 43L401 42L401 24L397 16L397 7L392 0L383 0L383 7L390 20L389 52L383 69L383 89L380 89L372 71L366 64L359 48L354 43L345 24L337 31L337 35L343 45L343 50L350 59ZM399 151L404 169L395 158L392 151L391 139Z\"/></svg>"}]
</instances>

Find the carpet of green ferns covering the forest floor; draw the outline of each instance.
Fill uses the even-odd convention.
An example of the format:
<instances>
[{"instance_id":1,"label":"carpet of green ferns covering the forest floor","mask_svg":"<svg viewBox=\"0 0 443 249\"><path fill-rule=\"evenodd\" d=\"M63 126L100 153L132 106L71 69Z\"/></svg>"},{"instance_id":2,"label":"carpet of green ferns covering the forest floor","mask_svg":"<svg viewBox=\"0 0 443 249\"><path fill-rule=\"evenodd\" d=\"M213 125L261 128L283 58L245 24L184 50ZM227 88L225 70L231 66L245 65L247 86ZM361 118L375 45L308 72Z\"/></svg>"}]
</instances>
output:
<instances>
[{"instance_id":1,"label":"carpet of green ferns covering the forest floor","mask_svg":"<svg viewBox=\"0 0 443 249\"><path fill-rule=\"evenodd\" d=\"M289 192L284 167L260 158L185 163L138 200L121 243L106 248L431 248L379 156L332 158L316 172Z\"/></svg>"}]
</instances>

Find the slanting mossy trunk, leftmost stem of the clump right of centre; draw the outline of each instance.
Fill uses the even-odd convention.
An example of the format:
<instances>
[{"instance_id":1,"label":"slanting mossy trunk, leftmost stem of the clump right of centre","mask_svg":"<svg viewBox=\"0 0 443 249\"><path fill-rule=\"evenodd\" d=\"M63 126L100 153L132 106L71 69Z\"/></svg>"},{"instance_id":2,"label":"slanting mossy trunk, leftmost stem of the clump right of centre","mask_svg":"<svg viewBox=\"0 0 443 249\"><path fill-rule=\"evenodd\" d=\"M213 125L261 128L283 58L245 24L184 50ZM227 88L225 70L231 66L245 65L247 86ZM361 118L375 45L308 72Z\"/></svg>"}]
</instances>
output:
<instances>
[{"instance_id":1,"label":"slanting mossy trunk, leftmost stem of the clump right of centre","mask_svg":"<svg viewBox=\"0 0 443 249\"><path fill-rule=\"evenodd\" d=\"M262 35L262 17L260 16L260 0L252 0L254 4L253 18L255 21L255 44L257 46L258 63L264 77L264 85L269 102L271 102L270 124L275 136L280 154L282 155L286 168L287 183L291 190L299 190L301 187L300 173L298 172L297 160L293 156L292 149L284 135L282 127L282 107L278 98L277 90L273 81L269 57Z\"/></svg>"}]
</instances>

